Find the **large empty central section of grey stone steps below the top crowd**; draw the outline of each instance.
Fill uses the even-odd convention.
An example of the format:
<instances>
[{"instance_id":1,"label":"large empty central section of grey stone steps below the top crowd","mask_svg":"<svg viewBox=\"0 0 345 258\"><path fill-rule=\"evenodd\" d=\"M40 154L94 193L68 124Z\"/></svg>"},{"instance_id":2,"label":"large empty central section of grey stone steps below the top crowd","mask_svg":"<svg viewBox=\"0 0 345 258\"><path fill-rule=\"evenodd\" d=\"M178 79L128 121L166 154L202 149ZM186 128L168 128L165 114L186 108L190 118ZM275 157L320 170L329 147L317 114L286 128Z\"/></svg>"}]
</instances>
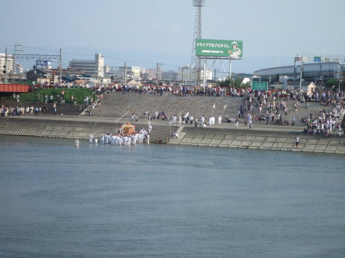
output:
<instances>
[{"instance_id":1,"label":"large empty central section of grey stone steps below the top crowd","mask_svg":"<svg viewBox=\"0 0 345 258\"><path fill-rule=\"evenodd\" d=\"M145 111L153 116L165 111L168 115L186 114L195 118L201 116L235 116L242 98L230 96L175 96L172 94L138 94L112 92L105 94L101 105L92 111L92 116L109 116L114 118L130 118L134 113L144 118ZM214 107L214 108L213 108ZM224 108L225 107L225 108Z\"/></svg>"}]
</instances>

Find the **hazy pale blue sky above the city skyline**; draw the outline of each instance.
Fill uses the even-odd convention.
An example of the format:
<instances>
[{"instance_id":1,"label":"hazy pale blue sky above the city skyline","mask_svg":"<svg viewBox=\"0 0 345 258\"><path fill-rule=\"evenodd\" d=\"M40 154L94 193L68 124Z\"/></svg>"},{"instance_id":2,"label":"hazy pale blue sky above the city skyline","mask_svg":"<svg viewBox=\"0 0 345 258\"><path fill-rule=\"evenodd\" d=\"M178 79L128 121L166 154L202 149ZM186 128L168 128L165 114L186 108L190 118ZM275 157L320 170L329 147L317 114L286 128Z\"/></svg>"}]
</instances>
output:
<instances>
[{"instance_id":1,"label":"hazy pale blue sky above the city skyline","mask_svg":"<svg viewBox=\"0 0 345 258\"><path fill-rule=\"evenodd\" d=\"M0 6L0 52L8 46L13 53L14 44L27 54L59 54L61 47L64 65L101 52L106 65L163 63L164 70L191 60L193 0L0 0ZM233 72L292 65L294 54L344 56L344 10L344 0L206 0L202 38L244 42Z\"/></svg>"}]
</instances>

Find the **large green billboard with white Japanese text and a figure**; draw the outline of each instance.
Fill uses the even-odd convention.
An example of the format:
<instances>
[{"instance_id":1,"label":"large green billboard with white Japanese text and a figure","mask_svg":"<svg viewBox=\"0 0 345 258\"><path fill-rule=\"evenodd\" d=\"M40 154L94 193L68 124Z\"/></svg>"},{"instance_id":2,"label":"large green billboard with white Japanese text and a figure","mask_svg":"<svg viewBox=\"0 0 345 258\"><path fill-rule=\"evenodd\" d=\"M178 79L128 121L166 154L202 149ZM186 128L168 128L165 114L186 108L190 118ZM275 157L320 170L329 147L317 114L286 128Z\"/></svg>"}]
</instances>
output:
<instances>
[{"instance_id":1,"label":"large green billboard with white Japanese text and a figure","mask_svg":"<svg viewBox=\"0 0 345 258\"><path fill-rule=\"evenodd\" d=\"M243 54L243 41L225 41L221 39L197 39L197 56L214 56L239 59Z\"/></svg>"}]
</instances>

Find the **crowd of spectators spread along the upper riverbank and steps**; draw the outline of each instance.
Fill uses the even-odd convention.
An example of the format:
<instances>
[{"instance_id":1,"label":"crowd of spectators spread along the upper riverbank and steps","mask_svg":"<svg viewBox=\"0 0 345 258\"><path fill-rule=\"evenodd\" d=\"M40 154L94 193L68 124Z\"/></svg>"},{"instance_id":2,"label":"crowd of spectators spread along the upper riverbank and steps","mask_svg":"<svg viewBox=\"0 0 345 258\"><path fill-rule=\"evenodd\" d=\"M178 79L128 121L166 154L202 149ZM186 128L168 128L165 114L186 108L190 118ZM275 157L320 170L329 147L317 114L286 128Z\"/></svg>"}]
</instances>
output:
<instances>
[{"instance_id":1,"label":"crowd of spectators spread along the upper riverbank and steps","mask_svg":"<svg viewBox=\"0 0 345 258\"><path fill-rule=\"evenodd\" d=\"M146 119L150 122L152 119L163 119L171 125L194 125L195 127L213 126L221 122L230 122L238 126L239 120L244 120L245 129L250 129L253 126L253 120L266 122L266 125L295 125L297 119L297 111L300 109L307 109L311 102L319 102L320 114L302 118L301 123L306 123L306 133L324 134L328 136L331 132L337 131L341 134L341 121L339 120L345 105L344 96L341 92L330 90L328 92L315 91L306 93L299 91L299 89L277 89L268 91L254 91L251 89L234 88L234 87L199 87L199 86L178 86L172 87L170 85L120 85L116 83L103 84L98 83L89 85L88 83L79 83L73 85L72 83L62 83L55 85L55 87L86 87L97 91L97 99L92 97L84 99L84 108L91 116L92 110L99 105L103 94L110 92L137 93L137 94L174 94L177 96L234 96L243 97L243 102L239 106L237 116L225 116L222 118L219 115L217 118L214 115L208 117L195 117L193 114L166 114L166 111L155 111L154 114L145 112ZM22 116L29 114L43 114L47 111L47 103L53 103L53 110L56 114L57 105L63 105L65 98L63 92L60 96L37 96L39 100L43 101L43 106L30 107L4 107L0 109L1 116ZM14 99L19 101L19 95L14 94ZM76 103L75 98L71 97L70 101ZM293 104L291 104L293 103ZM331 107L331 111L326 111ZM224 109L226 106L224 106ZM212 110L212 109L211 109ZM211 112L212 114L212 112ZM300 114L300 113L299 113ZM131 122L137 122L139 116L132 114L130 116Z\"/></svg>"}]
</instances>

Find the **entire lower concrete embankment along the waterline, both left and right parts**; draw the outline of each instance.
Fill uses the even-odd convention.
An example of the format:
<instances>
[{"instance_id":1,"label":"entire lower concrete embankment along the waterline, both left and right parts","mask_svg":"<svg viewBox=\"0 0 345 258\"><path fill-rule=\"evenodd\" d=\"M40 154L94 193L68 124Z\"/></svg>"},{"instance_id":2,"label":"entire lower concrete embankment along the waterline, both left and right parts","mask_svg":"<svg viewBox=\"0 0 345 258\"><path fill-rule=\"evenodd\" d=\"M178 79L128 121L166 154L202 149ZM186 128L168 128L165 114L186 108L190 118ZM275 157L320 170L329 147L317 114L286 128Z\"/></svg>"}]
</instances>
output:
<instances>
[{"instance_id":1,"label":"entire lower concrete embankment along the waterline, both left and right parts","mask_svg":"<svg viewBox=\"0 0 345 258\"><path fill-rule=\"evenodd\" d=\"M86 140L90 134L99 137L107 131L115 132L126 119L86 116L15 116L0 118L0 135L67 138ZM242 149L265 149L273 151L303 151L314 153L345 153L345 138L332 135L309 136L303 127L255 126L244 130L243 125L223 123L213 127L184 125L170 127L165 121L152 121L153 131L163 142L182 146L223 147ZM147 127L146 121L139 121L138 127ZM170 135L178 129L179 138ZM156 130L155 130L156 129ZM165 133L165 134L164 134ZM168 137L169 135L169 137ZM295 137L299 136L299 148L295 148Z\"/></svg>"}]
</instances>

